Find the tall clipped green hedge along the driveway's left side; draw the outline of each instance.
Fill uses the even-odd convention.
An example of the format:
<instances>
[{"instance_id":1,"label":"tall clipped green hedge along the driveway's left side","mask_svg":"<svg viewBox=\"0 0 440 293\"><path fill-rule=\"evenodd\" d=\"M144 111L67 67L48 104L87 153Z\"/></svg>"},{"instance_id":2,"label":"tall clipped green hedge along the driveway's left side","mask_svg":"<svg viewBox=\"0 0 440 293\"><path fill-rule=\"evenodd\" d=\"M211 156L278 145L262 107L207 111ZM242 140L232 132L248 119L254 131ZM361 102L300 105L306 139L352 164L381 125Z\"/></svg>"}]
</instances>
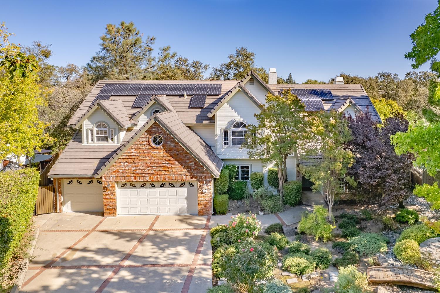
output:
<instances>
[{"instance_id":1,"label":"tall clipped green hedge along the driveway's left side","mask_svg":"<svg viewBox=\"0 0 440 293\"><path fill-rule=\"evenodd\" d=\"M0 291L14 285L27 257L39 182L35 168L0 173Z\"/></svg>"}]
</instances>

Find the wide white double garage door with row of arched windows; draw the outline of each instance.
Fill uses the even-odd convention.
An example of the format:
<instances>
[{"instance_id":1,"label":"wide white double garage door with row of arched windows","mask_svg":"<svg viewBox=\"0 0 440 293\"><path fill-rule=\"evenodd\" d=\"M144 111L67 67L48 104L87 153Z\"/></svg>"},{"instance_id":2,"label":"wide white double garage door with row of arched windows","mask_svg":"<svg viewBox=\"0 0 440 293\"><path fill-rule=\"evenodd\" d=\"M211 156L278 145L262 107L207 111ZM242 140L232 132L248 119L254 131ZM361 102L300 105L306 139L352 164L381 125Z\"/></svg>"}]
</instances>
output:
<instances>
[{"instance_id":1,"label":"wide white double garage door with row of arched windows","mask_svg":"<svg viewBox=\"0 0 440 293\"><path fill-rule=\"evenodd\" d=\"M118 183L118 215L197 214L197 182Z\"/></svg>"}]
</instances>

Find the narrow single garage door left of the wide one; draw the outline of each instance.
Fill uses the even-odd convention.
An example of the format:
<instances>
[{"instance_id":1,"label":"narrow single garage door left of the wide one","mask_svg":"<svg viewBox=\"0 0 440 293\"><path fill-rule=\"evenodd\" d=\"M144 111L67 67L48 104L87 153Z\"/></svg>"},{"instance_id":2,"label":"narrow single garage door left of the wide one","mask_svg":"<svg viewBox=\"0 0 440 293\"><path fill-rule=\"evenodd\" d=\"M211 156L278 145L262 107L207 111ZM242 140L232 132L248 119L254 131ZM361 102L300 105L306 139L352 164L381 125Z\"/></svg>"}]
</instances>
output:
<instances>
[{"instance_id":1,"label":"narrow single garage door left of the wide one","mask_svg":"<svg viewBox=\"0 0 440 293\"><path fill-rule=\"evenodd\" d=\"M103 183L99 179L64 179L63 211L103 211Z\"/></svg>"}]
</instances>

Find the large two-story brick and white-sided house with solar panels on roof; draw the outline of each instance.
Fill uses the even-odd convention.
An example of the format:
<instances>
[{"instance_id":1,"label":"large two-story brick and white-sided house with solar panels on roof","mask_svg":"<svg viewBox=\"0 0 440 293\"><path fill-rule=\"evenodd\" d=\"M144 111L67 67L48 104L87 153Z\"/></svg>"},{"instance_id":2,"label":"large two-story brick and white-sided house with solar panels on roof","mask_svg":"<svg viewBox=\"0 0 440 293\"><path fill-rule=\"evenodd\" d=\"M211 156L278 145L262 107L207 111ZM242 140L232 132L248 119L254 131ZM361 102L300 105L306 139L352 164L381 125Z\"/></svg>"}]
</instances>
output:
<instances>
[{"instance_id":1,"label":"large two-story brick and white-sided house with solar panels on roof","mask_svg":"<svg viewBox=\"0 0 440 293\"><path fill-rule=\"evenodd\" d=\"M370 111L380 121L360 84L276 81L275 69L269 84L253 72L242 80L99 81L70 119L76 132L48 173L57 211L209 215L224 164L237 165L241 180L265 172L267 184L267 167L240 145L268 92L291 89L306 110ZM289 157L289 180L298 162Z\"/></svg>"}]
</instances>

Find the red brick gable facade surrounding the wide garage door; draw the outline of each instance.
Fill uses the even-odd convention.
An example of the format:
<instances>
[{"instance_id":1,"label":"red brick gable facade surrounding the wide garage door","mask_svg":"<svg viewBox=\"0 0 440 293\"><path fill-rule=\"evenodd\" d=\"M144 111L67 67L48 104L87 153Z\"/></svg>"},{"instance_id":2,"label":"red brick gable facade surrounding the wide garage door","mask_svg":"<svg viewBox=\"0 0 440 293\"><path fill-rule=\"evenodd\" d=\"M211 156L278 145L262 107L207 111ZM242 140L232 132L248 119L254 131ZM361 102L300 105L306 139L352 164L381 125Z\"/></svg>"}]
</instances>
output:
<instances>
[{"instance_id":1,"label":"red brick gable facade surrounding the wide garage door","mask_svg":"<svg viewBox=\"0 0 440 293\"><path fill-rule=\"evenodd\" d=\"M164 143L154 147L151 136ZM102 176L104 216L117 216L116 183L121 181L198 181L198 214L212 214L213 176L156 122Z\"/></svg>"}]
</instances>

